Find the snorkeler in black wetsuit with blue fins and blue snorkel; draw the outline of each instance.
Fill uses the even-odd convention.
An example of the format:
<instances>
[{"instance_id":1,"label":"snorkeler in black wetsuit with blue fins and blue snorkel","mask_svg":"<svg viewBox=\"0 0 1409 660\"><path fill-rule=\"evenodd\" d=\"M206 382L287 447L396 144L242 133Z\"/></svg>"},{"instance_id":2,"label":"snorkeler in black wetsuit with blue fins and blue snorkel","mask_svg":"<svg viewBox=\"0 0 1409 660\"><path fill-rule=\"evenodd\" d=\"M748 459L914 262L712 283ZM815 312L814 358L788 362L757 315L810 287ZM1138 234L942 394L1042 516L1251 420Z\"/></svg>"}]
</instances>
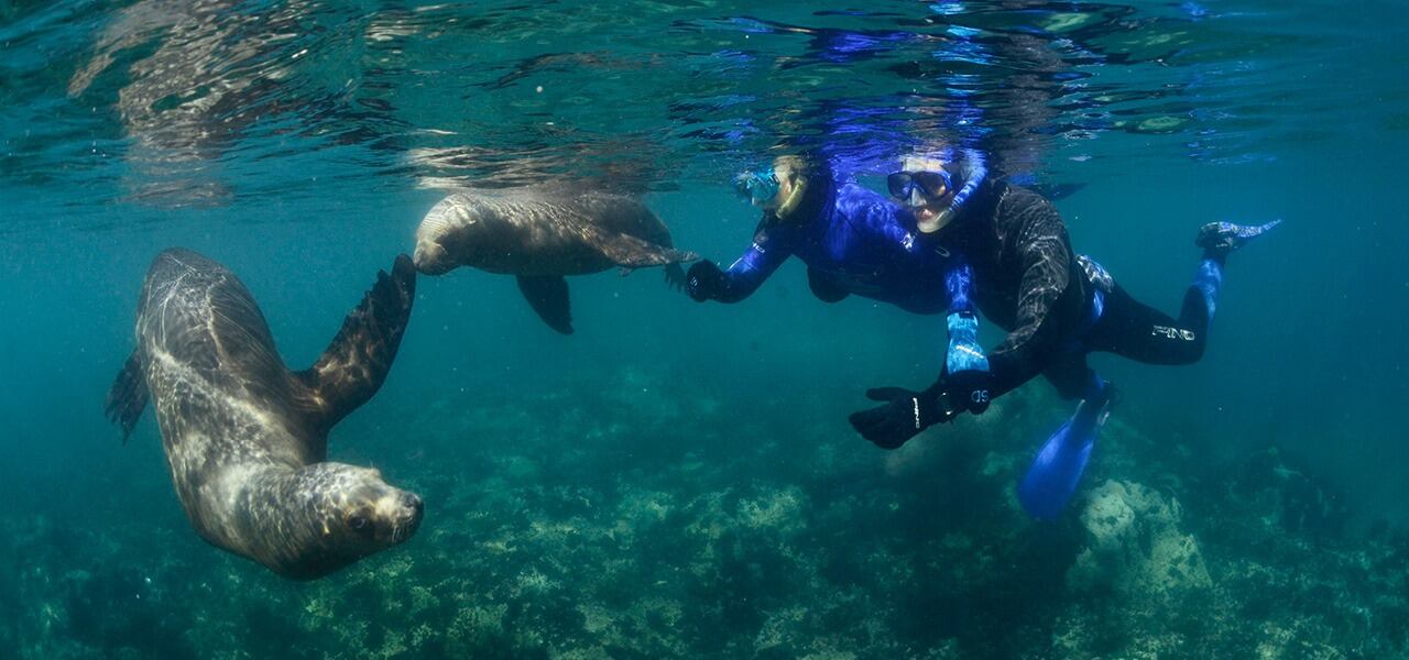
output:
<instances>
[{"instance_id":1,"label":"snorkeler in black wetsuit with blue fins and blue snorkel","mask_svg":"<svg viewBox=\"0 0 1409 660\"><path fill-rule=\"evenodd\" d=\"M1081 398L1076 415L1043 448L1019 498L1038 518L1054 518L1071 497L1112 398L1110 384L1086 366L1086 353L1112 352L1154 364L1188 364L1203 356L1209 321L1217 303L1227 255L1275 227L1205 225L1195 239L1203 248L1179 318L1136 301L1096 262L1072 252L1057 208L1030 190L1002 180L964 182L962 169L936 159L910 158L890 174L890 193L912 207L924 232L974 269L974 301L1009 331L988 353L988 383L998 397L1043 374L1068 400ZM958 207L955 190L975 190ZM947 212L955 210L954 212ZM954 387L941 374L924 391L871 390L885 405L851 415L871 442L898 448L924 428L961 412L982 412L967 395L975 386Z\"/></svg>"}]
</instances>

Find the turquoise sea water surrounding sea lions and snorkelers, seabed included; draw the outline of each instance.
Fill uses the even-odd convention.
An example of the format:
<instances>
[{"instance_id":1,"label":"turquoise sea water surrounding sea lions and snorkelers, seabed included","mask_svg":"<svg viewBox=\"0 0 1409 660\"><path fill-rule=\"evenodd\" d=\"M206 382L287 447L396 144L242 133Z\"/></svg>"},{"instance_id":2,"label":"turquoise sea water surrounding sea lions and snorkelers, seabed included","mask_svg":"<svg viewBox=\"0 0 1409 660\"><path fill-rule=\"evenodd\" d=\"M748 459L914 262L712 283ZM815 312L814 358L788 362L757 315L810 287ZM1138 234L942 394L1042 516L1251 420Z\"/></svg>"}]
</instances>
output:
<instances>
[{"instance_id":1,"label":"turquoise sea water surrounding sea lions and snorkelers, seabed included","mask_svg":"<svg viewBox=\"0 0 1409 660\"><path fill-rule=\"evenodd\" d=\"M0 657L1403 657L1406 37L1388 1L0 3ZM151 414L103 418L166 246L297 369L454 187L609 182L727 263L740 169L824 144L879 189L938 142L1076 189L1076 249L1167 311L1199 224L1285 220L1199 364L1093 360L1124 400L1054 523L1013 484L1067 404L874 448L847 412L929 384L943 324L796 263L738 305L576 277L571 338L421 277L331 455L426 519L316 583L204 545Z\"/></svg>"}]
</instances>

